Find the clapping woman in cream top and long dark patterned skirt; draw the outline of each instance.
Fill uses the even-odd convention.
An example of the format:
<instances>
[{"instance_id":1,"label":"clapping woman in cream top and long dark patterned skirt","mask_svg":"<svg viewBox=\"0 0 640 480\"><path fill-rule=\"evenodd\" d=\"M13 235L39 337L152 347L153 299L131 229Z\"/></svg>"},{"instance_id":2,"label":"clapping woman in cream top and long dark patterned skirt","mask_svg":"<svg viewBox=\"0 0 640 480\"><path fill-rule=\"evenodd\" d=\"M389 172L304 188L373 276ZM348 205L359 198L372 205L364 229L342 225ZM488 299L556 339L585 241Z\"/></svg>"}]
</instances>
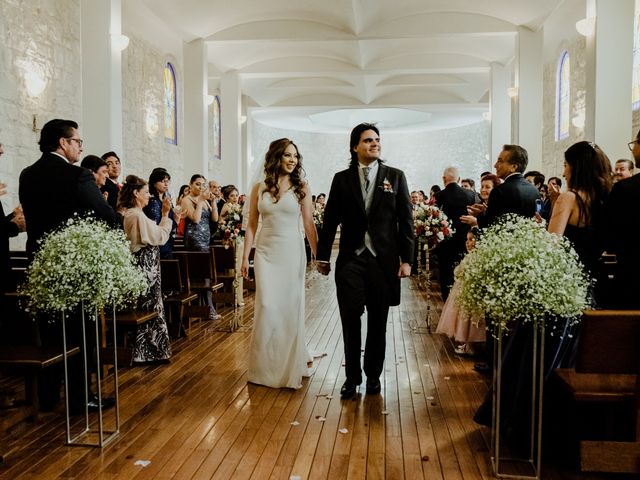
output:
<instances>
[{"instance_id":1,"label":"clapping woman in cream top and long dark patterned skirt","mask_svg":"<svg viewBox=\"0 0 640 480\"><path fill-rule=\"evenodd\" d=\"M165 196L162 200L159 224L144 214L143 208L149 204L150 196L147 183L135 175L129 175L120 190L118 208L126 209L124 232L131 242L131 252L136 257L138 265L144 270L149 282L148 292L138 301L139 307L141 310L154 310L158 313L155 319L138 326L133 361L164 363L171 357L171 345L162 305L158 247L167 243L173 222L169 218L171 211L169 196Z\"/></svg>"}]
</instances>

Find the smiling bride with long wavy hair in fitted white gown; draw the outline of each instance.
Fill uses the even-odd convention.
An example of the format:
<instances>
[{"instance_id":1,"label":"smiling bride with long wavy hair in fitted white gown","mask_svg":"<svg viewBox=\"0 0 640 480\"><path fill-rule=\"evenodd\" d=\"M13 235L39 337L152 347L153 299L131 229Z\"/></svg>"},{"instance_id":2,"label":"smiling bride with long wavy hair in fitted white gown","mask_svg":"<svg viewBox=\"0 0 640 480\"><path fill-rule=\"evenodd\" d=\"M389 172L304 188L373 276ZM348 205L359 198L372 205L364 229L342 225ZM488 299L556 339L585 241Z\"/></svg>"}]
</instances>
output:
<instances>
[{"instance_id":1,"label":"smiling bride with long wavy hair in fitted white gown","mask_svg":"<svg viewBox=\"0 0 640 480\"><path fill-rule=\"evenodd\" d=\"M256 238L255 316L249 382L268 387L300 388L312 360L304 325L304 233L315 258L317 233L309 185L302 179L302 157L288 138L274 140L265 156L263 182L250 195L242 275L248 278L249 252ZM302 222L301 222L302 220Z\"/></svg>"}]
</instances>

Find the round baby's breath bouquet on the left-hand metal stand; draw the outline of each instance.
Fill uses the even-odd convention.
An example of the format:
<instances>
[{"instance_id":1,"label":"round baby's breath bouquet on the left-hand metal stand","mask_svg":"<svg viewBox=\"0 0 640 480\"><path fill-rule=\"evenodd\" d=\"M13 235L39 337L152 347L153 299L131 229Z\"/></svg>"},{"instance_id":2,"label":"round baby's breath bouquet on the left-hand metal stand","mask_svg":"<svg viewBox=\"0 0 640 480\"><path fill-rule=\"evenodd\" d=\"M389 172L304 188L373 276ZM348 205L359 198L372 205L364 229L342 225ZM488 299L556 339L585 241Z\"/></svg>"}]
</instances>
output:
<instances>
[{"instance_id":1,"label":"round baby's breath bouquet on the left-hand metal stand","mask_svg":"<svg viewBox=\"0 0 640 480\"><path fill-rule=\"evenodd\" d=\"M61 312L122 306L147 291L121 230L93 218L74 217L40 241L21 292L33 311Z\"/></svg>"}]
</instances>

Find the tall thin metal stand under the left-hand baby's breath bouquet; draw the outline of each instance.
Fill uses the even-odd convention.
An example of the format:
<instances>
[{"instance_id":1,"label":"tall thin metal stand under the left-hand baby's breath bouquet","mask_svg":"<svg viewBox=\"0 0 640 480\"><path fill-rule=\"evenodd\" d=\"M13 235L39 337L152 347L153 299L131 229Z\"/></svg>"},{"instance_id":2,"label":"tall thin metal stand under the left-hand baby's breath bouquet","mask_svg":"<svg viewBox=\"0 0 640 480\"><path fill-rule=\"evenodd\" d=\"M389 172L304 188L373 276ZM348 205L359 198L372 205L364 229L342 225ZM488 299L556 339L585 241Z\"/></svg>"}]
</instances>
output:
<instances>
[{"instance_id":1,"label":"tall thin metal stand under the left-hand baby's breath bouquet","mask_svg":"<svg viewBox=\"0 0 640 480\"><path fill-rule=\"evenodd\" d=\"M90 375L89 364L87 359L87 332L85 328L85 308L82 305L81 312L81 328L82 328L82 356L83 356L83 379L84 379L84 428L80 433L72 436L71 434L71 417L69 414L69 367L68 367L68 353L67 353L67 329L65 312L62 312L62 344L63 344L63 360L64 360L64 390L65 390L65 416L66 416L66 429L67 429L67 445L71 446L84 446L84 447L103 447L111 442L120 433L120 403L118 392L118 352L116 343L116 307L113 305L113 386L114 386L114 399L115 399L115 429L105 430L104 427L104 412L102 409L103 396L102 385L100 380L100 332L98 321L98 310L94 309L91 313L93 324L95 326L95 365L97 367L97 392L98 398L98 428L91 428L89 421L89 407L87 405L89 401L90 391Z\"/></svg>"}]
</instances>

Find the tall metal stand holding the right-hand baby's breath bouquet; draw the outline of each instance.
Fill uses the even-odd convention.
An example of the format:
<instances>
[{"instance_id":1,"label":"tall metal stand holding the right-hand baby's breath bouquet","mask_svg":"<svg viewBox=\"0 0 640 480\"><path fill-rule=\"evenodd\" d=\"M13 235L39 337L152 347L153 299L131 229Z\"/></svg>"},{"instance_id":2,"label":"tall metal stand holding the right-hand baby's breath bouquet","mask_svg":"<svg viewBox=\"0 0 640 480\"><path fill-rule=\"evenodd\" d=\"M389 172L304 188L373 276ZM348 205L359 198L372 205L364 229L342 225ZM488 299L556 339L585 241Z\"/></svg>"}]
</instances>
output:
<instances>
[{"instance_id":1,"label":"tall metal stand holding the right-hand baby's breath bouquet","mask_svg":"<svg viewBox=\"0 0 640 480\"><path fill-rule=\"evenodd\" d=\"M498 332L494 342L493 365L493 412L491 428L491 461L498 478L540 479L542 443L542 396L544 380L544 325L520 324L512 336ZM516 338L517 337L517 338ZM509 346L509 342L515 342ZM521 347L525 346L524 349ZM524 359L524 368L514 375L508 362L517 361L513 356L503 358L509 348ZM529 350L529 351L527 351ZM530 358L529 358L530 356ZM530 363L529 363L530 361ZM511 369L511 371L509 371ZM527 371L528 370L528 371ZM508 402L519 402L514 393L515 379L527 382L531 388L530 398L522 399L518 405L517 419L513 410L505 406ZM511 403L513 405L513 403ZM520 420L521 419L521 420ZM514 425L516 425L514 427ZM524 426L524 429L519 430Z\"/></svg>"}]
</instances>

